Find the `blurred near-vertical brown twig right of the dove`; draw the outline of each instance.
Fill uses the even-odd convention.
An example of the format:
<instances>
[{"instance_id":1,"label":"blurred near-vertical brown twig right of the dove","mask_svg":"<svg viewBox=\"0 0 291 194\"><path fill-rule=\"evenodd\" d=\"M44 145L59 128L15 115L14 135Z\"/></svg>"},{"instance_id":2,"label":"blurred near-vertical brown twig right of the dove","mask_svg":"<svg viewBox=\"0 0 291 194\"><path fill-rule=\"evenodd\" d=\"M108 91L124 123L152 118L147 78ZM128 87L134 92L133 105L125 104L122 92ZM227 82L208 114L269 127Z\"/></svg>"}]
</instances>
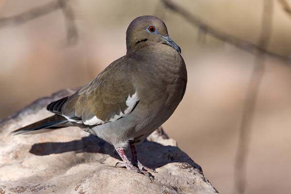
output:
<instances>
[{"instance_id":1,"label":"blurred near-vertical brown twig right of the dove","mask_svg":"<svg viewBox=\"0 0 291 194\"><path fill-rule=\"evenodd\" d=\"M260 48L267 48L272 34L273 0L264 0L262 26L258 45ZM264 53L258 53L251 79L247 88L246 97L242 112L242 123L240 127L239 145L235 161L235 188L239 194L245 193L246 186L246 157L254 112L259 92L259 87L264 73Z\"/></svg>"}]
</instances>

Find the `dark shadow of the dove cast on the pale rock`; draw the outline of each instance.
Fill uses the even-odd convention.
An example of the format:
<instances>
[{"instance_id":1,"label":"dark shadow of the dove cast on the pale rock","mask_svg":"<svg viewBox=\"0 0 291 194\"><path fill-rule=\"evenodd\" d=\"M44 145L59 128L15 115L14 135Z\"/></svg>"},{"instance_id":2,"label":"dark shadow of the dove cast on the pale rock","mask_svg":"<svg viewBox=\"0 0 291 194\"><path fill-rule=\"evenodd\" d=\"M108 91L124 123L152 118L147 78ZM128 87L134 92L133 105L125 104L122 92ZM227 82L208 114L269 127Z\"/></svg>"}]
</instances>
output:
<instances>
[{"instance_id":1,"label":"dark shadow of the dove cast on the pale rock","mask_svg":"<svg viewBox=\"0 0 291 194\"><path fill-rule=\"evenodd\" d=\"M46 156L71 151L77 153L108 154L115 159L121 160L112 145L94 135L89 135L80 140L70 142L45 142L34 144L29 152L37 156ZM183 165L180 166L181 168L189 168L192 166L202 173L201 167L176 146L163 146L157 142L145 140L137 146L137 151L140 162L149 168L155 169L168 163L182 162ZM127 150L127 154L130 156L129 150Z\"/></svg>"}]
</instances>

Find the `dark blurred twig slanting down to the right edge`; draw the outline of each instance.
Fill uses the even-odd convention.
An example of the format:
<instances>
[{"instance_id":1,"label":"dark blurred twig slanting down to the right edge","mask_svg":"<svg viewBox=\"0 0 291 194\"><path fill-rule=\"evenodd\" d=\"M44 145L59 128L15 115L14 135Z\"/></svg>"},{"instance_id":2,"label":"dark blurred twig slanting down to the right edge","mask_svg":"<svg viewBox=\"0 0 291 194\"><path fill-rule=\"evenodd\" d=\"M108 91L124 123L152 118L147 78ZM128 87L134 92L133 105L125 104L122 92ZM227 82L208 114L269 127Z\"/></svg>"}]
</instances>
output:
<instances>
[{"instance_id":1,"label":"dark blurred twig slanting down to the right edge","mask_svg":"<svg viewBox=\"0 0 291 194\"><path fill-rule=\"evenodd\" d=\"M199 29L203 29L207 32L207 34L210 34L211 36L220 39L222 41L227 42L228 44L231 44L237 48L246 50L251 53L255 54L266 54L272 57L275 57L277 59L280 59L284 62L291 62L291 57L277 54L274 52L271 52L267 50L267 48L262 48L256 44L247 42L245 40L239 39L237 37L234 37L230 34L227 34L225 32L221 32L213 27L211 27L207 22L203 21L198 16L194 16L192 13L184 9L183 7L179 6L178 4L174 3L172 0L161 0L165 7L171 9L174 12L177 12L180 16L183 16L187 21L192 23L194 26L197 26Z\"/></svg>"}]
</instances>

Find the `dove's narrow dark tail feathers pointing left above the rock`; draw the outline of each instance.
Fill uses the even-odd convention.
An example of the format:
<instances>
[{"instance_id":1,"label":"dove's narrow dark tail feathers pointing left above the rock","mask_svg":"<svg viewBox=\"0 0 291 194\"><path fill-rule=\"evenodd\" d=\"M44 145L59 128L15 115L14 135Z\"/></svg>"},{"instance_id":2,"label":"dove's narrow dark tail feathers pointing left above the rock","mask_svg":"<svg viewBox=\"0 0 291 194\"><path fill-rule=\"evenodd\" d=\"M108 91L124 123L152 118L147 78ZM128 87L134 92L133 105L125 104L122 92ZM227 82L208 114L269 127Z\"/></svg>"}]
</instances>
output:
<instances>
[{"instance_id":1,"label":"dove's narrow dark tail feathers pointing left above the rock","mask_svg":"<svg viewBox=\"0 0 291 194\"><path fill-rule=\"evenodd\" d=\"M64 124L66 122L68 121L66 120L65 117L55 114L43 120L32 123L31 125L12 131L11 133L13 135L18 135L21 133L28 133L39 129L56 129L59 128L61 124Z\"/></svg>"}]
</instances>

